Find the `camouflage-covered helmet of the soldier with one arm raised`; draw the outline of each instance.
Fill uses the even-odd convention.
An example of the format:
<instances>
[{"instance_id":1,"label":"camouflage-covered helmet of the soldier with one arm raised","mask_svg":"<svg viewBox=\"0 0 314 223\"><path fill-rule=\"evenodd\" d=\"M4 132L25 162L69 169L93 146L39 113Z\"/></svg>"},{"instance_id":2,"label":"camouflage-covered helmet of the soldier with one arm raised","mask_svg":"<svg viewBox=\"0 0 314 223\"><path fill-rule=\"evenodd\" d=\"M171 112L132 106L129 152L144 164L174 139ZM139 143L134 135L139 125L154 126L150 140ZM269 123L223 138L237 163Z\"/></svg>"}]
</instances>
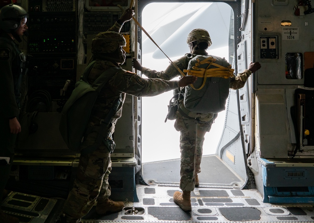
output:
<instances>
[{"instance_id":1,"label":"camouflage-covered helmet of the soldier with one arm raised","mask_svg":"<svg viewBox=\"0 0 314 223\"><path fill-rule=\"evenodd\" d=\"M118 47L127 45L125 38L116 32L98 33L92 42L92 53L113 53Z\"/></svg>"}]
</instances>

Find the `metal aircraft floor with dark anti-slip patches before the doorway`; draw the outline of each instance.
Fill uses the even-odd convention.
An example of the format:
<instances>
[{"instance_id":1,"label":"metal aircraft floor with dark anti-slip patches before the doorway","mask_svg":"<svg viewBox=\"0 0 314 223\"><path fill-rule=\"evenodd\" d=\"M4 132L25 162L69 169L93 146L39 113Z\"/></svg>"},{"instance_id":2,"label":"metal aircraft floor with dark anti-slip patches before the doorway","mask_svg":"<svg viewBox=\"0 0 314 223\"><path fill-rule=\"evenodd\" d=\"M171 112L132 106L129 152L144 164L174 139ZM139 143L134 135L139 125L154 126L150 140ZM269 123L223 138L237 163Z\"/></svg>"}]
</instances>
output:
<instances>
[{"instance_id":1,"label":"metal aircraft floor with dark anti-slip patches before the doorway","mask_svg":"<svg viewBox=\"0 0 314 223\"><path fill-rule=\"evenodd\" d=\"M235 190L232 187L195 188L191 193L192 211L183 211L173 202L176 190L179 190L177 186L137 185L139 202L125 202L124 210L109 215L97 215L92 208L82 222L314 221L313 205L271 205L263 203L257 190ZM59 200L16 192L11 193L2 204L3 211L17 216L21 223L54 223L61 207Z\"/></svg>"}]
</instances>

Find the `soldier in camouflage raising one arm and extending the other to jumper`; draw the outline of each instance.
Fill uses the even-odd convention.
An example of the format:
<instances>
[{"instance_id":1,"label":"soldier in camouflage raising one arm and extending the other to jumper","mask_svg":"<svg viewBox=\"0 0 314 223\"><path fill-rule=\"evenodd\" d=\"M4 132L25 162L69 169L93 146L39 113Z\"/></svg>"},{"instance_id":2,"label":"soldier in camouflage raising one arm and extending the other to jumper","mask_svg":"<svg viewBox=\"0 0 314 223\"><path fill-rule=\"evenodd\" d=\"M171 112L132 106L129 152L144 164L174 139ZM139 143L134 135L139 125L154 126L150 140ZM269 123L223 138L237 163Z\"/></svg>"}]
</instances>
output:
<instances>
[{"instance_id":1,"label":"soldier in camouflage raising one arm and extending the other to jumper","mask_svg":"<svg viewBox=\"0 0 314 223\"><path fill-rule=\"evenodd\" d=\"M133 10L127 9L118 20L119 23L110 28L107 32L99 33L92 42L92 53L95 64L88 75L90 84L109 68L118 67L125 62L125 51L122 49L126 45L124 37L119 33L122 24L132 18ZM70 191L67 200L62 209L61 222L77 223L81 217L86 215L97 200L96 213L104 215L107 212L118 212L124 207L123 202L116 202L109 199L111 195L108 176L111 172L111 138L115 129L117 119L121 117L122 104L125 94L131 94L137 97L155 96L163 92L187 86L194 83L196 78L181 79L180 81L166 81L162 79L144 79L139 75L119 70L115 73L101 89L96 102L91 111L88 127L94 126L81 149L95 144L101 121L111 110L117 99L122 101L117 111L107 126L103 135L102 144L91 153L80 156L78 164L78 173ZM109 142L109 143L108 143ZM109 146L108 146L109 144ZM109 148L110 147L110 148Z\"/></svg>"}]
</instances>

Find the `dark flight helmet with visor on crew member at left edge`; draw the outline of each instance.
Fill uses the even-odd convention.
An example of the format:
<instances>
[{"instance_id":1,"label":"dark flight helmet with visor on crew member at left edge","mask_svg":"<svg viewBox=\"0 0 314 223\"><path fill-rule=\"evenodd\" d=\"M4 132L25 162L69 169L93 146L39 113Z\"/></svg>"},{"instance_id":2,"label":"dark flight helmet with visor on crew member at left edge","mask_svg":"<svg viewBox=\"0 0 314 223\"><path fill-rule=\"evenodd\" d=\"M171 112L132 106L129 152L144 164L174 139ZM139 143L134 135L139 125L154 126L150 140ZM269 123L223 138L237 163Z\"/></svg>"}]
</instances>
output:
<instances>
[{"instance_id":1,"label":"dark flight helmet with visor on crew member at left edge","mask_svg":"<svg viewBox=\"0 0 314 223\"><path fill-rule=\"evenodd\" d=\"M24 8L19 5L9 4L0 9L0 27L7 33L12 33L19 28L22 18L28 18Z\"/></svg>"}]
</instances>

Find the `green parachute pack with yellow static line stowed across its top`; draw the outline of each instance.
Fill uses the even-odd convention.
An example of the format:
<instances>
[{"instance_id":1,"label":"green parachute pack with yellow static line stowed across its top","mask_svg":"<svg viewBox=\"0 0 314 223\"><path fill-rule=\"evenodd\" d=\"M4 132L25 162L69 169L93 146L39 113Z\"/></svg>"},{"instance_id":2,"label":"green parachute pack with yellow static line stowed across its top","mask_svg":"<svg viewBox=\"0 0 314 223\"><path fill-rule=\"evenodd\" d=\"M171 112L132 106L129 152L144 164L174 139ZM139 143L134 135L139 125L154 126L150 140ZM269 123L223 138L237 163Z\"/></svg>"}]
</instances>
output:
<instances>
[{"instance_id":1,"label":"green parachute pack with yellow static line stowed across its top","mask_svg":"<svg viewBox=\"0 0 314 223\"><path fill-rule=\"evenodd\" d=\"M185 87L184 106L191 112L218 113L225 110L230 78L234 69L225 60L212 55L198 55L189 62L187 75L197 76L194 84Z\"/></svg>"}]
</instances>

